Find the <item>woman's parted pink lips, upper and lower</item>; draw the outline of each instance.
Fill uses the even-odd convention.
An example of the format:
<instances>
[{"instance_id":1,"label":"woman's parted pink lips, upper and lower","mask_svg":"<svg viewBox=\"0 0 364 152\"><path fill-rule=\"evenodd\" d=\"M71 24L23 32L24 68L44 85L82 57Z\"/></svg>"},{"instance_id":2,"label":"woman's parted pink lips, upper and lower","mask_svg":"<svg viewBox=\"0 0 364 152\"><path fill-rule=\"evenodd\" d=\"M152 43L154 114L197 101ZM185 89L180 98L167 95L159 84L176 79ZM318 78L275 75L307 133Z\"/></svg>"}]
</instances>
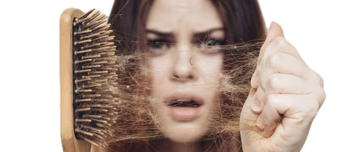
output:
<instances>
[{"instance_id":1,"label":"woman's parted pink lips, upper and lower","mask_svg":"<svg viewBox=\"0 0 364 152\"><path fill-rule=\"evenodd\" d=\"M191 94L174 94L165 102L174 120L193 121L201 114L203 101Z\"/></svg>"}]
</instances>

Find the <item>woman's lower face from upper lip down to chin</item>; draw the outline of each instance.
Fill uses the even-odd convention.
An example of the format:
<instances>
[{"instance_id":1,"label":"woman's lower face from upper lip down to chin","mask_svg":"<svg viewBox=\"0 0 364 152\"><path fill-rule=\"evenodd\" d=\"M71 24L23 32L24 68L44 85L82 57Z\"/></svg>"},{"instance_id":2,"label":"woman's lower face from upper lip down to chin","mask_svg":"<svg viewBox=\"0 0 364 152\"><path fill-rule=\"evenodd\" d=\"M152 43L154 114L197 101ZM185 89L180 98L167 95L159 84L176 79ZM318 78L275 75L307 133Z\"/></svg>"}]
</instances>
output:
<instances>
[{"instance_id":1,"label":"woman's lower face from upper lip down to chin","mask_svg":"<svg viewBox=\"0 0 364 152\"><path fill-rule=\"evenodd\" d=\"M174 94L155 107L165 136L177 143L193 143L209 128L213 100L193 94Z\"/></svg>"}]
</instances>

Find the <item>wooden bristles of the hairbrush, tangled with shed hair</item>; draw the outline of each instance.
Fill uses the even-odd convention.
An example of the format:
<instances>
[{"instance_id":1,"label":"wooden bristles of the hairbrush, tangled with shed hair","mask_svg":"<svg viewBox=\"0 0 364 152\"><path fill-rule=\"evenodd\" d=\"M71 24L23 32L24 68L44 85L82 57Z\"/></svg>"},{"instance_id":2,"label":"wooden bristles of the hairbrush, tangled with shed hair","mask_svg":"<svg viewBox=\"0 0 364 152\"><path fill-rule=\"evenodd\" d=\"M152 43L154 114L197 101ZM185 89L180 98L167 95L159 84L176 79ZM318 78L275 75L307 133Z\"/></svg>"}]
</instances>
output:
<instances>
[{"instance_id":1,"label":"wooden bristles of the hairbrush, tangled with shed hair","mask_svg":"<svg viewBox=\"0 0 364 152\"><path fill-rule=\"evenodd\" d=\"M74 20L74 128L77 139L107 147L118 98L117 56L106 15L92 9Z\"/></svg>"}]
</instances>

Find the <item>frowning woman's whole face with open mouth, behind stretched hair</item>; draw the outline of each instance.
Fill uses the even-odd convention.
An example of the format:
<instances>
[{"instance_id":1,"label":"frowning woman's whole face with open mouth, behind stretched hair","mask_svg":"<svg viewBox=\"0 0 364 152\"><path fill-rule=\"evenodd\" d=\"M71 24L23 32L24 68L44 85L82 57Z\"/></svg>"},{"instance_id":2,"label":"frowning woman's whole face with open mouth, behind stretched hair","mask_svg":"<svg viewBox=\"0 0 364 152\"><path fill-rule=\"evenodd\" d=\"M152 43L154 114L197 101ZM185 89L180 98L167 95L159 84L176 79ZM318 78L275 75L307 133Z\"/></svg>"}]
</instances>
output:
<instances>
[{"instance_id":1,"label":"frowning woman's whole face with open mouth, behind stretched hair","mask_svg":"<svg viewBox=\"0 0 364 152\"><path fill-rule=\"evenodd\" d=\"M205 135L218 103L223 24L209 0L155 0L148 15L157 120L171 140L189 143Z\"/></svg>"}]
</instances>

